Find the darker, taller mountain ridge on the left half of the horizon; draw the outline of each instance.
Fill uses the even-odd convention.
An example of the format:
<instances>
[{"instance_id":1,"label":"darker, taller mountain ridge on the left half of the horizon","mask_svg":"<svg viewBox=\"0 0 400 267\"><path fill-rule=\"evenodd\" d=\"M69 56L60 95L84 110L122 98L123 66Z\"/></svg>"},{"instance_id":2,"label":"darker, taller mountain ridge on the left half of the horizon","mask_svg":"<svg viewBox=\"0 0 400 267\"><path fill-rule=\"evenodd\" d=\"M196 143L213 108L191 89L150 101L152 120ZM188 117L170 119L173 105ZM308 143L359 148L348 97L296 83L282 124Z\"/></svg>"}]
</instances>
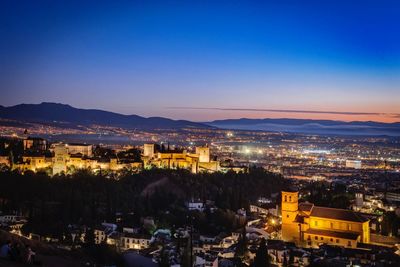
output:
<instances>
[{"instance_id":1,"label":"darker, taller mountain ridge on the left half of the horizon","mask_svg":"<svg viewBox=\"0 0 400 267\"><path fill-rule=\"evenodd\" d=\"M141 117L119 113L80 109L70 105L47 103L20 104L11 107L0 106L0 118L24 122L68 123L72 125L106 125L127 129L156 128L212 128L211 126L186 120L172 120L162 117Z\"/></svg>"}]
</instances>

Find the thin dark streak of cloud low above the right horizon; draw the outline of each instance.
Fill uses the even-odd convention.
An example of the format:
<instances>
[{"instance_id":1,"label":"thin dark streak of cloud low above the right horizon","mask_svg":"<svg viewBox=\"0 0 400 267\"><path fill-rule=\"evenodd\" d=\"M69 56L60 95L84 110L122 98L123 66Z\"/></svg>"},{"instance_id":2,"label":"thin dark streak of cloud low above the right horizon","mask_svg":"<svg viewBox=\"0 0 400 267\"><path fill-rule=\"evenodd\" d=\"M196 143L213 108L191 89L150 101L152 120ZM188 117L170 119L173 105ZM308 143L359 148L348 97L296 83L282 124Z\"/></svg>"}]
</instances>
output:
<instances>
[{"instance_id":1,"label":"thin dark streak of cloud low above the right horizon","mask_svg":"<svg viewBox=\"0 0 400 267\"><path fill-rule=\"evenodd\" d=\"M332 115L355 115L355 116L393 116L400 118L399 113L379 112L352 112L352 111L325 111L325 110L294 110L294 109L260 109L260 108L202 108L202 107L167 107L168 109L190 109L190 110L219 110L219 111L251 111L251 112L276 112L276 113L302 113L302 114L332 114Z\"/></svg>"}]
</instances>

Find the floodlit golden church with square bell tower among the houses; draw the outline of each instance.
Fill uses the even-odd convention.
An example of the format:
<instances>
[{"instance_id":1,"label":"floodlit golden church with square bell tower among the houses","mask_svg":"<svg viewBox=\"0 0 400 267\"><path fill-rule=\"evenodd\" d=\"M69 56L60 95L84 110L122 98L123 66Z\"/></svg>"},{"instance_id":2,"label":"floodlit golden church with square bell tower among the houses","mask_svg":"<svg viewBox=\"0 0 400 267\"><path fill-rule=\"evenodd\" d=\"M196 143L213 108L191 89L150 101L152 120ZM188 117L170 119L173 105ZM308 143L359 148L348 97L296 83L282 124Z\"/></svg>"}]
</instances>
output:
<instances>
[{"instance_id":1,"label":"floodlit golden church with square bell tower among the houses","mask_svg":"<svg viewBox=\"0 0 400 267\"><path fill-rule=\"evenodd\" d=\"M300 246L357 247L369 243L369 220L344 209L299 203L298 192L282 192L282 239Z\"/></svg>"}]
</instances>

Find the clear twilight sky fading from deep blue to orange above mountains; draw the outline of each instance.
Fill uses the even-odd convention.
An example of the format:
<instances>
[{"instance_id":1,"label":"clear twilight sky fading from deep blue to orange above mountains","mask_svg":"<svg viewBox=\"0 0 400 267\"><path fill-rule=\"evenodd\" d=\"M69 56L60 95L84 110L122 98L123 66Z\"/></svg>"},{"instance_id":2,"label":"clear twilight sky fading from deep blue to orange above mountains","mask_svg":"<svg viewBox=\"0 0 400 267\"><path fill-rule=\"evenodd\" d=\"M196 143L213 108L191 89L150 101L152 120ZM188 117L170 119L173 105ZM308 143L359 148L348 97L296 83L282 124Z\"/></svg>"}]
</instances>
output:
<instances>
[{"instance_id":1,"label":"clear twilight sky fading from deep blue to orange above mountains","mask_svg":"<svg viewBox=\"0 0 400 267\"><path fill-rule=\"evenodd\" d=\"M0 1L0 104L400 121L399 1L217 2Z\"/></svg>"}]
</instances>

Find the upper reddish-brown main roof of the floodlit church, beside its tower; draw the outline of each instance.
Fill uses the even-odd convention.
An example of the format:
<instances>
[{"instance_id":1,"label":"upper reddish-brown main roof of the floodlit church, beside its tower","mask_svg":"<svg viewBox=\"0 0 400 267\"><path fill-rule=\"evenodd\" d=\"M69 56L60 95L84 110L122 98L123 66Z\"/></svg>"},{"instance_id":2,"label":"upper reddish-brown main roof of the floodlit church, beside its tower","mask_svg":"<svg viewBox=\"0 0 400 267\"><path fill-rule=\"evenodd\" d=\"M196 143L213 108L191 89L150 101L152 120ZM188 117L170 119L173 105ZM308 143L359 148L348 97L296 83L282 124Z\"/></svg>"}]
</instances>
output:
<instances>
[{"instance_id":1,"label":"upper reddish-brown main roof of the floodlit church, beside its tower","mask_svg":"<svg viewBox=\"0 0 400 267\"><path fill-rule=\"evenodd\" d=\"M335 209L314 206L311 210L311 217L335 219L340 221L350 221L350 222L366 222L368 219L363 216L353 212L351 210Z\"/></svg>"}]
</instances>

